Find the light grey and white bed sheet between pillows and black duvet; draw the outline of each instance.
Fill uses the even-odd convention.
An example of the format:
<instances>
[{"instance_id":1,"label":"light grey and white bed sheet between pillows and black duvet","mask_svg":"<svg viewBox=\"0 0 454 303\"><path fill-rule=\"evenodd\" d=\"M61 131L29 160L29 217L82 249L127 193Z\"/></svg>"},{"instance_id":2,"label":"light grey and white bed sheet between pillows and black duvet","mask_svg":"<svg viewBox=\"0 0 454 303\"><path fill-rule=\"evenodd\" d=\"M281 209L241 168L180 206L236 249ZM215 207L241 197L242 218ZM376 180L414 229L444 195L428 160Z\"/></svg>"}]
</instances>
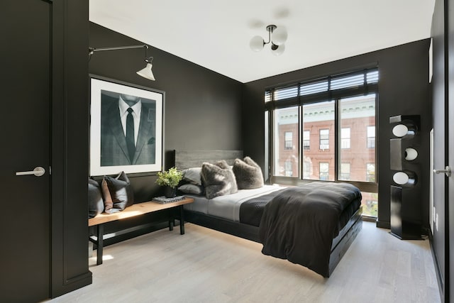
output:
<instances>
[{"instance_id":1,"label":"light grey and white bed sheet between pillows and black duvet","mask_svg":"<svg viewBox=\"0 0 454 303\"><path fill-rule=\"evenodd\" d=\"M235 194L227 194L213 199L206 199L204 196L194 194L184 194L185 197L194 198L194 203L185 204L184 209L239 222L240 206L243 202L283 188L277 185L265 185L256 189L240 189Z\"/></svg>"}]
</instances>

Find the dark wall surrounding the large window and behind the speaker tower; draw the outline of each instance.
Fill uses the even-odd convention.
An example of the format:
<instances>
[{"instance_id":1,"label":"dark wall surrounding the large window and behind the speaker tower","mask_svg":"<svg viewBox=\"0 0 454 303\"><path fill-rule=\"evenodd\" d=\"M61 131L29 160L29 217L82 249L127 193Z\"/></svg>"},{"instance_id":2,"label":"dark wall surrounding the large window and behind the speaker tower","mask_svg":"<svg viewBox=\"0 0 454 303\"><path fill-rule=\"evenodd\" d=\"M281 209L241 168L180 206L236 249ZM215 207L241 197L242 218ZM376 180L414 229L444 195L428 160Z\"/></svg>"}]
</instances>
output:
<instances>
[{"instance_id":1,"label":"dark wall surrounding the large window and behind the speaker tower","mask_svg":"<svg viewBox=\"0 0 454 303\"><path fill-rule=\"evenodd\" d=\"M421 115L421 171L428 171L428 133L431 128L431 106L428 94L428 47L429 40L416 41L394 48L377 50L365 55L349 57L283 75L268 77L244 85L243 92L243 150L264 168L264 110L265 89L304 79L314 79L340 72L356 70L377 64L380 72L378 101L378 221L377 225L389 228L389 186L392 171L389 170L389 116L399 114ZM405 212L406 219L428 226L427 174L419 178L418 195Z\"/></svg>"}]
</instances>

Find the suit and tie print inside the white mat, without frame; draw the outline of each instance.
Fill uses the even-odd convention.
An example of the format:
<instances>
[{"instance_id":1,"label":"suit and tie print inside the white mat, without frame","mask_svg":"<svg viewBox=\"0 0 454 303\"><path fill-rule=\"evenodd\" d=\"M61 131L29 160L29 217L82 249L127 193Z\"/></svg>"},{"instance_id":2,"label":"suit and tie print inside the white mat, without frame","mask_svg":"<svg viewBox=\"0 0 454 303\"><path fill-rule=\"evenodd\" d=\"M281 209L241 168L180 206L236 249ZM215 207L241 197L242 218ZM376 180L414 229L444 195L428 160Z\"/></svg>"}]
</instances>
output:
<instances>
[{"instance_id":1,"label":"suit and tie print inside the white mat, without frame","mask_svg":"<svg viewBox=\"0 0 454 303\"><path fill-rule=\"evenodd\" d=\"M155 164L155 101L123 99L101 94L101 166Z\"/></svg>"}]
</instances>

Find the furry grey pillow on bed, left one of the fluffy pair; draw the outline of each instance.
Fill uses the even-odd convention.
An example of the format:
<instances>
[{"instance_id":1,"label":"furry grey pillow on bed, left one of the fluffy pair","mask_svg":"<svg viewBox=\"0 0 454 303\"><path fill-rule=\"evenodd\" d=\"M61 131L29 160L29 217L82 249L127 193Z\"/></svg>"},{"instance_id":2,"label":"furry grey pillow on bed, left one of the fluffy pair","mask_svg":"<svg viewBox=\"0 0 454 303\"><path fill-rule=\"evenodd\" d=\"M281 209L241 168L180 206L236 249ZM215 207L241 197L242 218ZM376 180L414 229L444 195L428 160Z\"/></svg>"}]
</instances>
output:
<instances>
[{"instance_id":1,"label":"furry grey pillow on bed, left one of the fluffy pair","mask_svg":"<svg viewBox=\"0 0 454 303\"><path fill-rule=\"evenodd\" d=\"M233 170L224 160L214 164L204 162L201 165L201 180L207 199L238 192Z\"/></svg>"}]
</instances>

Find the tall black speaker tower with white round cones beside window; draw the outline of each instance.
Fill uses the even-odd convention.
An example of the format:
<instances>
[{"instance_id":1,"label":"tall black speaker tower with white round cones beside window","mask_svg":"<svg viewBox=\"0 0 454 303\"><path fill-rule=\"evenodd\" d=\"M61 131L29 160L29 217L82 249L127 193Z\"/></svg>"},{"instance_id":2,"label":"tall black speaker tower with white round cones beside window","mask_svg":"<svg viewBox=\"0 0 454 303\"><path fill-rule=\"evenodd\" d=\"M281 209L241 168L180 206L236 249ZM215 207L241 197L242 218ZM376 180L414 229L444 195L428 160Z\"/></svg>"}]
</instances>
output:
<instances>
[{"instance_id":1,"label":"tall black speaker tower with white round cones beside window","mask_svg":"<svg viewBox=\"0 0 454 303\"><path fill-rule=\"evenodd\" d=\"M421 222L407 216L409 209L418 205L415 200L420 197L418 150L421 117L392 116L389 123L393 125L392 138L389 139L389 168L394 171L390 188L391 234L402 240L421 239Z\"/></svg>"}]
</instances>

